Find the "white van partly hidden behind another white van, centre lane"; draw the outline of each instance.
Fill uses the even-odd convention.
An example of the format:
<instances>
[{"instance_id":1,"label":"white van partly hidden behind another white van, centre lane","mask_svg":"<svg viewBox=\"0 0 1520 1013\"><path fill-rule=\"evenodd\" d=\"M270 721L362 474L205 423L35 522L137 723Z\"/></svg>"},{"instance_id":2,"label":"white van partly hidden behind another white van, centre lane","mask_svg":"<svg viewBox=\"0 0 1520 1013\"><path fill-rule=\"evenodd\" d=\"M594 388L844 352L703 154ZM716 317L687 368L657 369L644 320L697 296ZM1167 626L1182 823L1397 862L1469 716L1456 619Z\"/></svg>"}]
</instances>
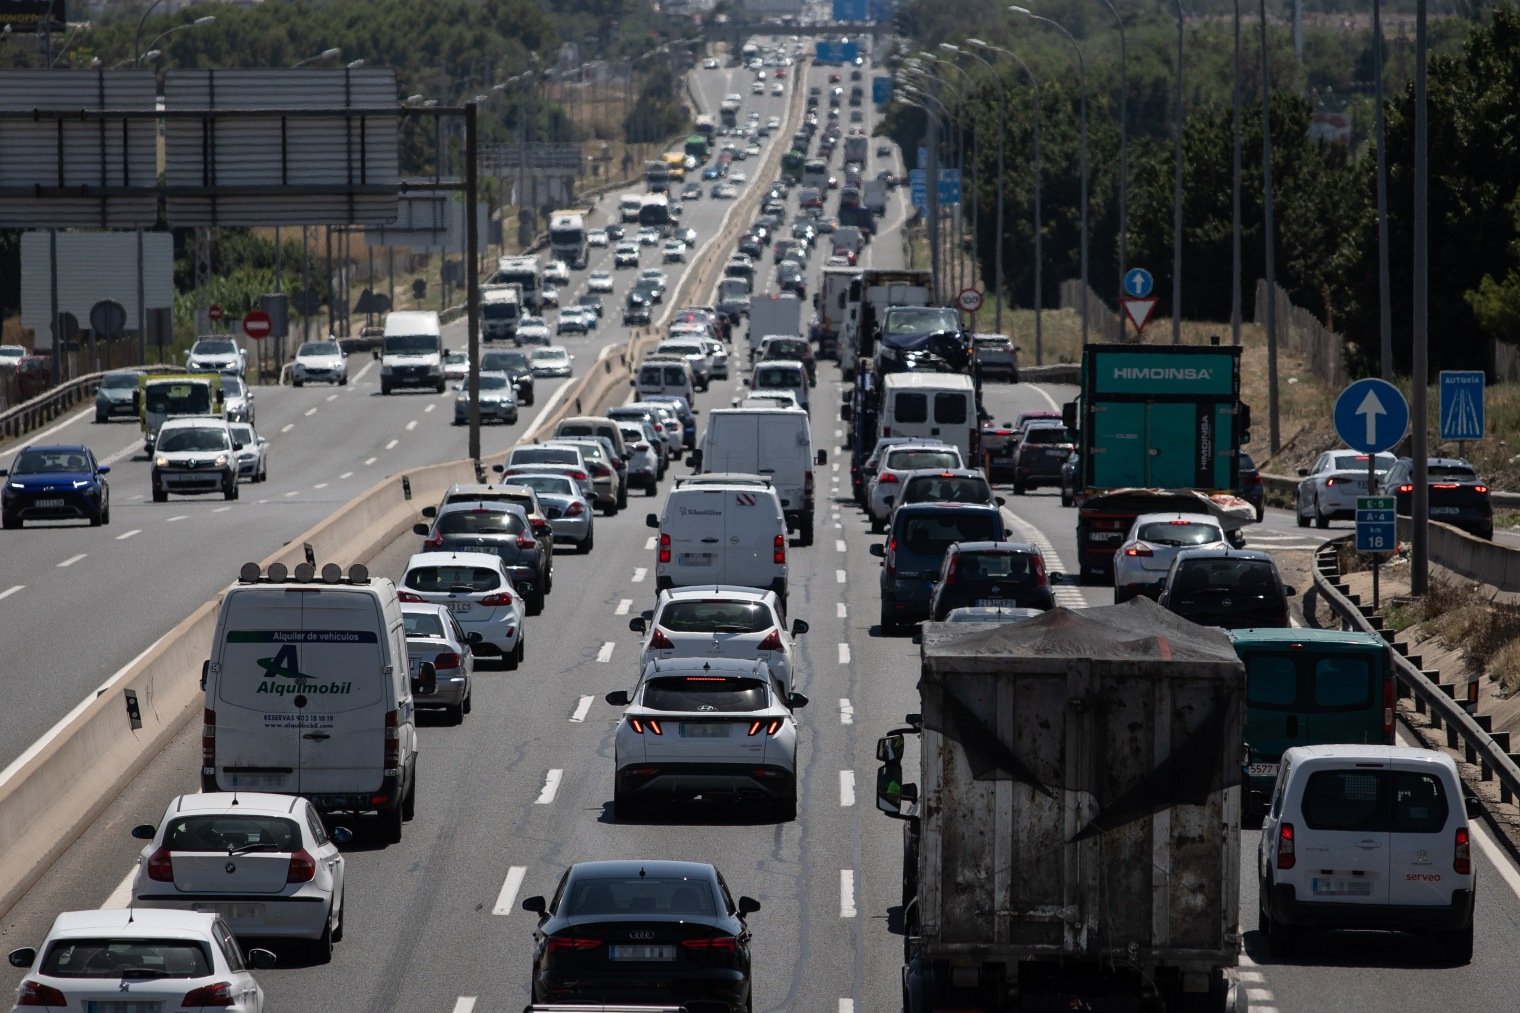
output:
<instances>
[{"instance_id":1,"label":"white van partly hidden behind another white van, centre lane","mask_svg":"<svg viewBox=\"0 0 1520 1013\"><path fill-rule=\"evenodd\" d=\"M807 412L790 408L719 408L707 415L707 432L696 452L698 473L728 472L771 479L781 499L789 531L813 545L813 456Z\"/></svg>"}]
</instances>

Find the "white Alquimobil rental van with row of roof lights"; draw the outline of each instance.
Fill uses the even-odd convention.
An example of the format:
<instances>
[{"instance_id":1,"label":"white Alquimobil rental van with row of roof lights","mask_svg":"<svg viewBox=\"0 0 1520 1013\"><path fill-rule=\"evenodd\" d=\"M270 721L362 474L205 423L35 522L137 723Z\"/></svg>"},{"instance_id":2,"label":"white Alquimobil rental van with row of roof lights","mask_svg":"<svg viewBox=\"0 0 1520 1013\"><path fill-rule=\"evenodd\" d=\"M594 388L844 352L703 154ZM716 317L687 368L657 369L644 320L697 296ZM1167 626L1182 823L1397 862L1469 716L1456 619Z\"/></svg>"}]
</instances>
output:
<instances>
[{"instance_id":1,"label":"white Alquimobil rental van with row of roof lights","mask_svg":"<svg viewBox=\"0 0 1520 1013\"><path fill-rule=\"evenodd\" d=\"M378 812L386 840L416 809L413 686L395 584L336 563L260 573L222 596L201 681L202 791L302 795L322 812Z\"/></svg>"}]
</instances>

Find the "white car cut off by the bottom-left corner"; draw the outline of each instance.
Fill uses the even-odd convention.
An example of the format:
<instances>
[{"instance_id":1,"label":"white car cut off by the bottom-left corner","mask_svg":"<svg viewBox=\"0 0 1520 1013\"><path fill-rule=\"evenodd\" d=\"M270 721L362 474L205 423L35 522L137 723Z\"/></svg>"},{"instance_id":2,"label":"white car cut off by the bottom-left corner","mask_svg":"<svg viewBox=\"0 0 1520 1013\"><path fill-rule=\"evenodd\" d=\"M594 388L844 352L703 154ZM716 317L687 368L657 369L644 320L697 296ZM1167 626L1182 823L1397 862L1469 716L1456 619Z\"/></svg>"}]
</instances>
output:
<instances>
[{"instance_id":1,"label":"white car cut off by the bottom-left corner","mask_svg":"<svg viewBox=\"0 0 1520 1013\"><path fill-rule=\"evenodd\" d=\"M275 955L245 954L207 911L102 908L61 913L40 948L11 951L11 966L30 969L17 1008L263 1013L252 969L274 967Z\"/></svg>"}]
</instances>

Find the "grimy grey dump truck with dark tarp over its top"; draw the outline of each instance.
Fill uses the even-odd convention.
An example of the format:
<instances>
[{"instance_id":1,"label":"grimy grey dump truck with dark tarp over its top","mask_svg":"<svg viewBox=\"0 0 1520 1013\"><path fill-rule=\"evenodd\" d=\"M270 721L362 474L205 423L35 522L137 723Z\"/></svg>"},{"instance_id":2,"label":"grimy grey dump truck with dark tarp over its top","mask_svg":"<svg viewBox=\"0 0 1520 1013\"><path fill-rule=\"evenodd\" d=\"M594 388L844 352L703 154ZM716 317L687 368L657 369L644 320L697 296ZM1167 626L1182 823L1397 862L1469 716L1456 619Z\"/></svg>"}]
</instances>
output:
<instances>
[{"instance_id":1,"label":"grimy grey dump truck with dark tarp over its top","mask_svg":"<svg viewBox=\"0 0 1520 1013\"><path fill-rule=\"evenodd\" d=\"M920 657L923 712L877 744L904 1010L1243 1013L1228 637L1137 598L926 624Z\"/></svg>"}]
</instances>

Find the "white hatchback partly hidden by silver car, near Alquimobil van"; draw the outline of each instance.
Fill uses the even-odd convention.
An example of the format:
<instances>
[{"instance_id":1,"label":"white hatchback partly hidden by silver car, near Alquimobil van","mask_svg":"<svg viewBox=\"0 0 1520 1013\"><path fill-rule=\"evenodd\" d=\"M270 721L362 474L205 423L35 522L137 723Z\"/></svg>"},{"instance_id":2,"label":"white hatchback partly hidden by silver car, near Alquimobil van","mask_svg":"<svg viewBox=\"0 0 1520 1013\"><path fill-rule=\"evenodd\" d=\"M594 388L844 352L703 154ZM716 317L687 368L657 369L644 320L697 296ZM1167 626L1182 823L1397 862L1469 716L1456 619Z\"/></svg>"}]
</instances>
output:
<instances>
[{"instance_id":1,"label":"white hatchback partly hidden by silver car, near Alquimobil van","mask_svg":"<svg viewBox=\"0 0 1520 1013\"><path fill-rule=\"evenodd\" d=\"M497 554L418 552L406 563L397 598L447 605L467 636L480 634L473 649L500 654L509 669L521 663L523 596Z\"/></svg>"}]
</instances>

